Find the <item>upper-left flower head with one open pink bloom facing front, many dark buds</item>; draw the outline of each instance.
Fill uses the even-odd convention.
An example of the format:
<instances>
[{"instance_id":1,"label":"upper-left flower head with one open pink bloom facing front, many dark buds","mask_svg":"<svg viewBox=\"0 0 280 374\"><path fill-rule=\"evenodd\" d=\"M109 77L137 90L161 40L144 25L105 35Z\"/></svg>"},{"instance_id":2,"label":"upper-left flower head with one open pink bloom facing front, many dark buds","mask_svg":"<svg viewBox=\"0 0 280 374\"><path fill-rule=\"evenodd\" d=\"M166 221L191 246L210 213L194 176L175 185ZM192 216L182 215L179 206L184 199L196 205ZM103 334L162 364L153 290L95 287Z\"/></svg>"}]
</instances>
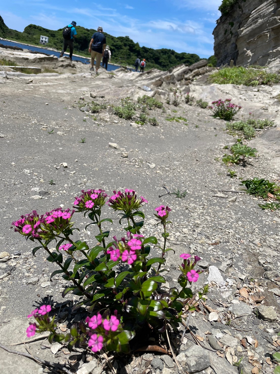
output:
<instances>
[{"instance_id":1,"label":"upper-left flower head with one open pink bloom facing front, many dark buds","mask_svg":"<svg viewBox=\"0 0 280 374\"><path fill-rule=\"evenodd\" d=\"M94 206L101 207L105 204L107 194L104 190L82 190L82 194L76 197L74 208L79 212L91 210Z\"/></svg>"}]
</instances>

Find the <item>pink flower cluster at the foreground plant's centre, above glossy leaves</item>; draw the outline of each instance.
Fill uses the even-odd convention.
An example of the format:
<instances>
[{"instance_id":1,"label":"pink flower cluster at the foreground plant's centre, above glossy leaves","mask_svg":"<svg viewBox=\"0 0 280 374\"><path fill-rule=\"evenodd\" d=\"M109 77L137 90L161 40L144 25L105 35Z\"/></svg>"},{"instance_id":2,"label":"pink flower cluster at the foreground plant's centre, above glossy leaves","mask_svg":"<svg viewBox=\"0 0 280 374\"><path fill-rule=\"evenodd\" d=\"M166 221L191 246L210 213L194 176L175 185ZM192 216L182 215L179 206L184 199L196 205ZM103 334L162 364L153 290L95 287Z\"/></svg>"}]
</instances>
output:
<instances>
[{"instance_id":1,"label":"pink flower cluster at the foreground plant's centre, above glossy leaves","mask_svg":"<svg viewBox=\"0 0 280 374\"><path fill-rule=\"evenodd\" d=\"M143 235L139 234L131 234L129 231L127 232L127 239L124 237L118 241L117 238L114 236L115 242L112 246L107 249L107 254L110 255L110 259L113 261L118 261L121 257L123 262L127 262L129 265L133 264L134 261L137 259L137 252L141 250L142 242L140 239L144 238Z\"/></svg>"}]
</instances>

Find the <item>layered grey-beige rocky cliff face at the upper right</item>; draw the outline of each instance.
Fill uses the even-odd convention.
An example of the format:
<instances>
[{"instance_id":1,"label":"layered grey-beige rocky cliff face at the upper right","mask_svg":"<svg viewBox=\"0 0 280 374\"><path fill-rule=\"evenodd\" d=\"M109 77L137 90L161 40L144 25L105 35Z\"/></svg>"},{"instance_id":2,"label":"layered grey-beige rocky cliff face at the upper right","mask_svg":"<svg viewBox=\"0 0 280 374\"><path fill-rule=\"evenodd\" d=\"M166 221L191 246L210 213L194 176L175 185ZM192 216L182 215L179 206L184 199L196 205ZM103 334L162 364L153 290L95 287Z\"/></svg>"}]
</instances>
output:
<instances>
[{"instance_id":1,"label":"layered grey-beige rocky cliff face at the upper right","mask_svg":"<svg viewBox=\"0 0 280 374\"><path fill-rule=\"evenodd\" d=\"M218 66L266 65L280 55L280 0L239 0L213 31Z\"/></svg>"}]
</instances>

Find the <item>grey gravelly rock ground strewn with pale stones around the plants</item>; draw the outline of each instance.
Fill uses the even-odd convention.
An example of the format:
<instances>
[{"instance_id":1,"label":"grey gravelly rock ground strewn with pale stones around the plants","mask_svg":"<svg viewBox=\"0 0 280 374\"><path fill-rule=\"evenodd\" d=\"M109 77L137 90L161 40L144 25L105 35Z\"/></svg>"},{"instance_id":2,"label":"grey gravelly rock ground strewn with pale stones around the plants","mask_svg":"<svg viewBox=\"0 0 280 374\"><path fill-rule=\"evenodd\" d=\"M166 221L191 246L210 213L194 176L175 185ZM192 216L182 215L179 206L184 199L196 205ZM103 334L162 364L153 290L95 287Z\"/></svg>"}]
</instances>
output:
<instances>
[{"instance_id":1,"label":"grey gravelly rock ground strewn with pale stones around the plants","mask_svg":"<svg viewBox=\"0 0 280 374\"><path fill-rule=\"evenodd\" d=\"M155 207L163 204L172 209L173 227L169 230L168 246L174 248L175 254L169 251L167 255L169 286L177 285L181 253L196 254L203 260L204 272L193 284L193 289L197 291L205 283L210 283L205 304L217 312L219 320L208 322L211 309L200 306L200 312L196 310L190 318L189 327L194 335L200 337L198 341L203 348L217 348L222 338L221 355L224 357L218 357L215 350L209 351L215 368L218 368L215 373L237 373L237 367L232 365L236 361L232 360L238 361L244 356L244 360L248 361L248 346L241 344L247 335L258 340L257 347L248 340L246 344L250 344L256 359L265 362L265 355L276 350L271 337L277 336L280 331L279 296L276 291L269 291L278 289L280 281L279 278L263 277L263 265L270 265L272 270L269 271L277 272L279 269L279 213L262 211L258 207L258 202L262 200L257 201L257 198L245 193L238 193L234 195L236 199L228 201L226 197L232 196L225 191L238 190L240 179L258 177L277 180L276 164L271 162L267 153L259 152L259 156L250 160L245 168L234 166L237 178L229 178L228 168L217 160L225 153L223 147L234 142L234 138L224 131L225 122L214 119L208 109L186 105L183 99L178 107L164 103L165 111L150 111L149 116L156 117L158 126L144 124L136 128L130 124L139 117L120 119L110 107L103 113L93 114L79 110L81 103L93 100L93 93L98 96L94 100L110 105L119 105L120 99L127 95L133 99L143 96L145 92L141 87L149 86L152 79L158 79L162 72L153 71L151 79L148 74L141 77L140 74L122 70L111 77L102 70L99 76L92 76L89 72L76 75L32 74L32 82L26 74L2 73L0 252L7 252L9 256L6 262L0 263L1 343L9 345L28 340L25 337L26 317L41 304L52 304L56 314L62 313L61 323L65 325L79 318L71 314L72 296L68 294L65 299L60 296L66 281L56 275L50 282L55 265L45 260L46 254L42 250L33 257L32 242L26 242L15 233L11 222L32 209L43 214L59 206L70 208L81 189L103 188L110 194L113 190L134 188L149 201L143 207L146 216L144 235L160 237L161 228L156 227L153 216ZM198 85L190 88L197 99L202 97L202 88ZM235 89L231 94L237 92ZM238 90L236 103L243 105L244 101L240 99L243 88ZM244 90L247 92L247 88ZM209 101L211 92L206 91ZM261 94L257 96L260 101ZM213 100L217 98L212 96ZM248 101L246 105L249 108ZM106 116L103 116L104 113ZM271 118L276 114L268 111L267 115ZM187 122L170 121L167 117L184 117ZM83 138L86 138L84 143L81 142ZM253 142L258 148L261 140L256 138ZM118 149L109 147L109 143L118 144ZM128 157L122 157L123 153L127 153ZM63 167L63 163L68 167ZM159 197L166 192L163 185L171 192L178 189L186 191L186 196L177 198L174 194L166 194ZM104 209L104 217L115 218L115 212L108 206ZM95 245L96 228L90 226L87 231L84 230L88 221L83 215L76 214L75 222L80 229L80 233L75 232L75 239L87 240L89 246ZM121 233L115 225L112 230L113 234ZM156 249L153 251L153 254L161 255ZM213 269L220 282L217 278L216 281L208 279ZM75 297L75 300L78 298ZM257 303L272 306L277 318L274 319L273 315L273 322L257 318L253 313ZM212 335L217 343L212 339L210 346L206 336L211 334L211 329L215 330L215 335ZM190 332L186 332L186 338L182 351L194 344ZM42 345L47 345L46 342L29 343L28 347L34 354L50 361L68 359L61 350L53 358L50 349ZM227 353L229 348L231 350ZM16 349L24 351L24 346L16 346ZM206 353L201 352L205 368L209 360ZM145 362L149 362L149 366L152 360L153 356L147 361L143 359L141 371L146 370ZM152 373L161 370L154 368L162 368L162 365L165 365L163 371L175 370L169 369L170 360L167 363L160 361L156 359L149 366ZM134 362L135 367L137 362ZM33 361L0 349L0 368L4 363L5 374L26 373L27 368L32 374L39 370ZM94 364L88 365L91 366ZM202 367L199 368L202 370ZM214 371L209 368L202 373L212 374Z\"/></svg>"}]
</instances>

